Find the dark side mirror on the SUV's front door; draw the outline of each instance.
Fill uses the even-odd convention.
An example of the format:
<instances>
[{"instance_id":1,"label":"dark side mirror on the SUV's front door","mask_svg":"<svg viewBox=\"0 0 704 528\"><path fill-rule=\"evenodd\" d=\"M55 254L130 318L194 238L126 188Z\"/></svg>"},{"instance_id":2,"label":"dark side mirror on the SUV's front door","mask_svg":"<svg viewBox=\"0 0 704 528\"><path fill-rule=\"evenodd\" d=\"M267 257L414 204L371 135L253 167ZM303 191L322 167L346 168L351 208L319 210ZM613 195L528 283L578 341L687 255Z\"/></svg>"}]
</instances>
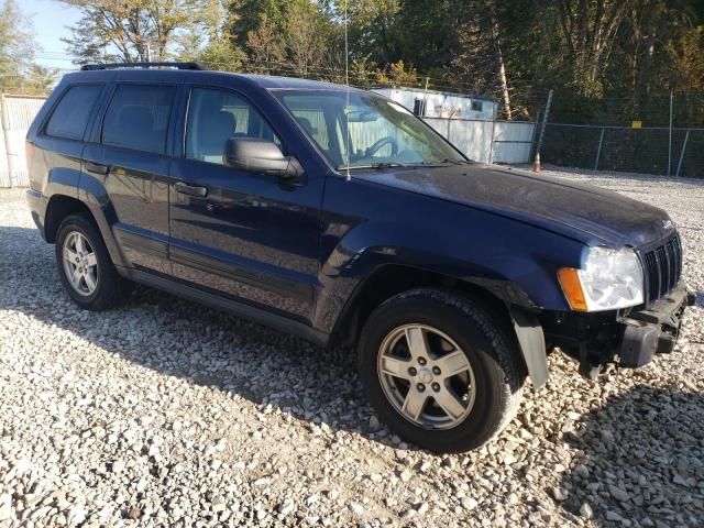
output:
<instances>
[{"instance_id":1,"label":"dark side mirror on the SUV's front door","mask_svg":"<svg viewBox=\"0 0 704 528\"><path fill-rule=\"evenodd\" d=\"M284 156L274 142L255 138L230 138L224 144L222 163L231 168L295 179L304 170L294 156Z\"/></svg>"}]
</instances>

